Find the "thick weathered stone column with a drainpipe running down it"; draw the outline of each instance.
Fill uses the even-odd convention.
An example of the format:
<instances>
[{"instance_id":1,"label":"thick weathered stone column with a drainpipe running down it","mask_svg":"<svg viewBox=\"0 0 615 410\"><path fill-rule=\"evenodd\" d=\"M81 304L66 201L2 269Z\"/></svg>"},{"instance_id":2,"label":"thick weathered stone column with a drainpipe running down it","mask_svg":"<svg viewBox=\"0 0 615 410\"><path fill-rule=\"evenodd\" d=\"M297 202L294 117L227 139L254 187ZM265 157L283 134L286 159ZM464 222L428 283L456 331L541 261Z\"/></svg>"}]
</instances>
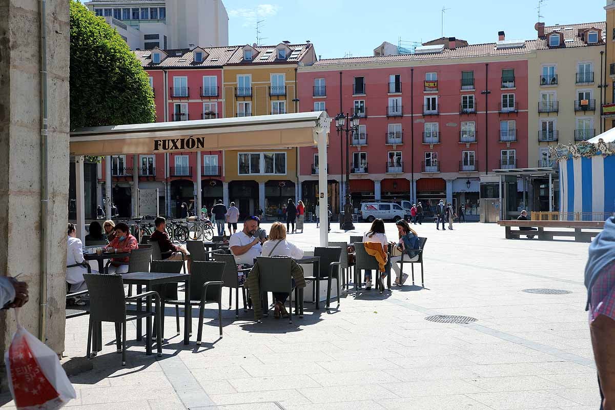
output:
<instances>
[{"instance_id":1,"label":"thick weathered stone column with a drainpipe running down it","mask_svg":"<svg viewBox=\"0 0 615 410\"><path fill-rule=\"evenodd\" d=\"M21 309L21 324L60 353L66 307L69 9L66 1L46 4L44 122L39 6L37 0L0 0L0 215L5 221L0 224L0 266L2 275L20 275L19 280L28 282L30 301ZM43 184L47 202L42 202ZM0 312L0 353L9 347L15 329L12 312ZM0 369L0 379L6 385L6 369Z\"/></svg>"}]
</instances>

